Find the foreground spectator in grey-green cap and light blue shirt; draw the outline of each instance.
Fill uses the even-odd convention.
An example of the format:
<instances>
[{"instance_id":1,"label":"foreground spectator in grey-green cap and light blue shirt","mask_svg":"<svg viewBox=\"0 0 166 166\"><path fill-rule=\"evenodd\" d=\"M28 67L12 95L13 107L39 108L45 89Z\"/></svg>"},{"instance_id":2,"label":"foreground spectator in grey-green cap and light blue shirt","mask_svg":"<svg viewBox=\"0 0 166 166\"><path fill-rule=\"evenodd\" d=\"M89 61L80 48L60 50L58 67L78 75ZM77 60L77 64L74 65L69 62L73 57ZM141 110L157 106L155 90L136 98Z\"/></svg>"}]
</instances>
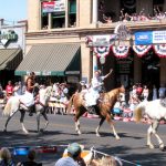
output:
<instances>
[{"instance_id":1,"label":"foreground spectator in grey-green cap and light blue shirt","mask_svg":"<svg viewBox=\"0 0 166 166\"><path fill-rule=\"evenodd\" d=\"M60 158L55 166L85 166L85 162L81 157L82 148L77 143L68 146L68 156Z\"/></svg>"}]
</instances>

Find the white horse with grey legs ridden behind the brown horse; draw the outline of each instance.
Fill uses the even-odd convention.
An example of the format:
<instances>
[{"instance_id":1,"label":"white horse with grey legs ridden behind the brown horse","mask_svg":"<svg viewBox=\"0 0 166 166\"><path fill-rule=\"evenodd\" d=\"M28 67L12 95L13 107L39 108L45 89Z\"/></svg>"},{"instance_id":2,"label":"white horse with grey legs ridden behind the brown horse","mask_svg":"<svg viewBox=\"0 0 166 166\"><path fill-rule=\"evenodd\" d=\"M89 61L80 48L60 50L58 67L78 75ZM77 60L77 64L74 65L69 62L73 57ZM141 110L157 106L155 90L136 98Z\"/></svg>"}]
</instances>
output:
<instances>
[{"instance_id":1,"label":"white horse with grey legs ridden behind the brown horse","mask_svg":"<svg viewBox=\"0 0 166 166\"><path fill-rule=\"evenodd\" d=\"M46 106L48 106L48 102L50 100L52 93L52 86L48 86L45 89L40 89L39 91L39 102L35 103L35 113L37 113L37 122L38 122L38 132L44 131L46 129L46 126L49 124L49 120L48 120L48 115L46 115ZM22 131L28 134L28 129L25 128L24 124L23 124L23 120L24 120L24 115L25 112L29 112L31 107L25 107L24 105L20 104L20 97L19 96L11 96L3 110L3 115L8 116L7 121L6 121L6 125L4 125L4 132L7 132L7 126L9 121L13 117L13 115L20 111L21 112L21 117L20 117L20 123L22 126ZM45 122L44 128L40 128L40 116L43 116Z\"/></svg>"}]
</instances>

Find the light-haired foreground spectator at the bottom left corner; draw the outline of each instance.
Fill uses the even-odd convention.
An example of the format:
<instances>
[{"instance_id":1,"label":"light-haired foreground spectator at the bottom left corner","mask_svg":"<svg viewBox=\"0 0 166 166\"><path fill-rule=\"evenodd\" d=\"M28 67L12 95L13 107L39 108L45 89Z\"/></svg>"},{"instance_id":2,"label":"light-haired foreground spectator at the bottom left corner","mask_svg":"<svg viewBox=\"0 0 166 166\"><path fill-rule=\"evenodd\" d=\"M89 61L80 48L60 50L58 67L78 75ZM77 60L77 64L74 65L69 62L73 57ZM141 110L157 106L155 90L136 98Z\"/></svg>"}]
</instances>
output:
<instances>
[{"instance_id":1,"label":"light-haired foreground spectator at the bottom left corner","mask_svg":"<svg viewBox=\"0 0 166 166\"><path fill-rule=\"evenodd\" d=\"M14 166L11 153L7 147L0 149L0 166Z\"/></svg>"}]
</instances>

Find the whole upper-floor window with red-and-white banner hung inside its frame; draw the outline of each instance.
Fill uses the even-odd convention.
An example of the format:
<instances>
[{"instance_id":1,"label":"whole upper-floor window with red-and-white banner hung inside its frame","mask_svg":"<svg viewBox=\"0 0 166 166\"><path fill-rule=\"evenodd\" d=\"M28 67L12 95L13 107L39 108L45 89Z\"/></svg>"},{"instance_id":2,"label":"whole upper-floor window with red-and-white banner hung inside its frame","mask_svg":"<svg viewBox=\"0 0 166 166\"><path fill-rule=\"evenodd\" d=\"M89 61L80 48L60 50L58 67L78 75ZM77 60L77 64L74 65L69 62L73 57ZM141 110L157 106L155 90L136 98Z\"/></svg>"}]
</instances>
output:
<instances>
[{"instance_id":1,"label":"whole upper-floor window with red-and-white banner hung inside its frame","mask_svg":"<svg viewBox=\"0 0 166 166\"><path fill-rule=\"evenodd\" d=\"M43 0L41 2L41 29L65 27L76 27L76 0Z\"/></svg>"}]
</instances>

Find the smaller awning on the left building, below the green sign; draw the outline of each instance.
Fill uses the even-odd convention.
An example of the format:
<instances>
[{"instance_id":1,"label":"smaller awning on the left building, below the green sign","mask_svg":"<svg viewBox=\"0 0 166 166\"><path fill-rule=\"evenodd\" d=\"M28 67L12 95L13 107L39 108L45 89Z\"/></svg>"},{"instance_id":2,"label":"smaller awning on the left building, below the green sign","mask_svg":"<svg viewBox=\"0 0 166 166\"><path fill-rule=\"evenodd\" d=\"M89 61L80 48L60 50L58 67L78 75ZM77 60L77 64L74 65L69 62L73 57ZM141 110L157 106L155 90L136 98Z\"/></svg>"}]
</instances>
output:
<instances>
[{"instance_id":1,"label":"smaller awning on the left building, below the green sign","mask_svg":"<svg viewBox=\"0 0 166 166\"><path fill-rule=\"evenodd\" d=\"M0 49L0 70L15 70L21 61L21 49Z\"/></svg>"}]
</instances>

